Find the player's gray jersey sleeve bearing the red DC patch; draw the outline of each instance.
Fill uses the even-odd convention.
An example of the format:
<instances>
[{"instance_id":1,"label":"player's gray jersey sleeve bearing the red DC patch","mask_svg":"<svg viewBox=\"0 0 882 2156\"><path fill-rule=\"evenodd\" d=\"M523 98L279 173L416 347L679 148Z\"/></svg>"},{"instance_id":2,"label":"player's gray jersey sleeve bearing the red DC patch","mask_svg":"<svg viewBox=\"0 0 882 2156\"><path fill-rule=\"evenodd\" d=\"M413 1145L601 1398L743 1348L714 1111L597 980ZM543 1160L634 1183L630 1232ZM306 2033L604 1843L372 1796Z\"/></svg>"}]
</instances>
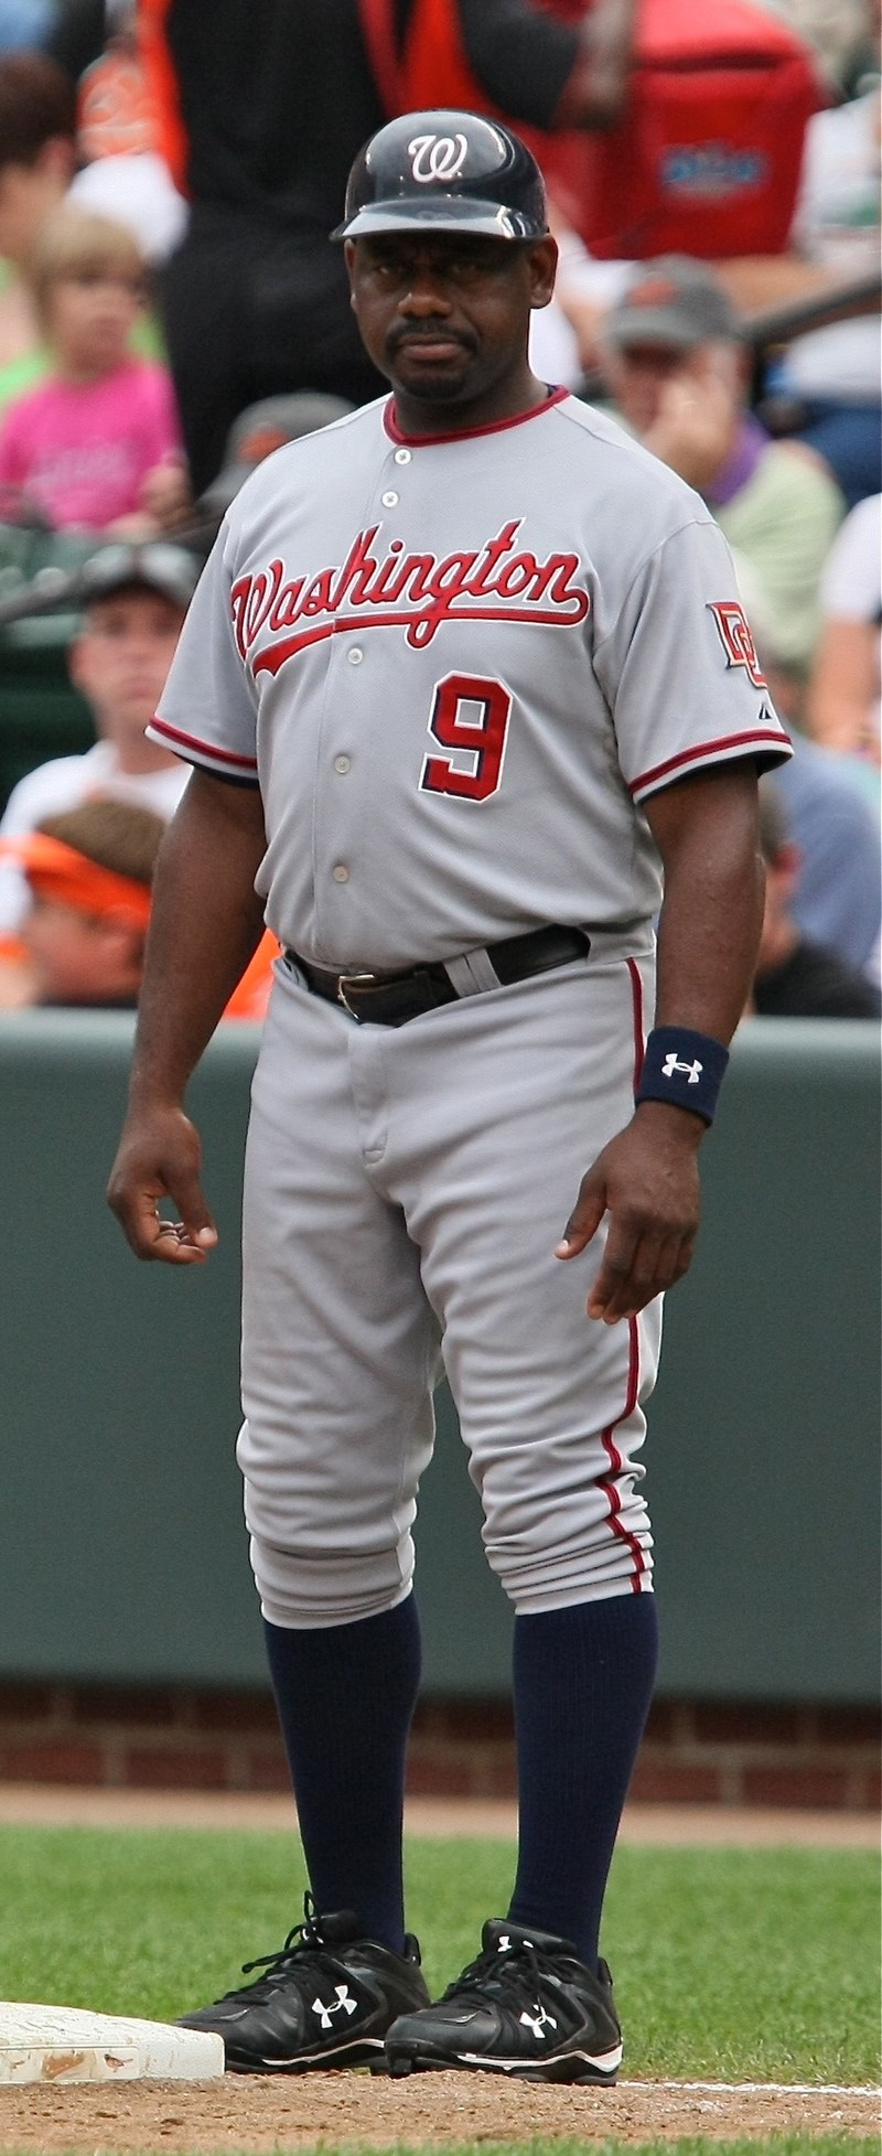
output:
<instances>
[{"instance_id":1,"label":"player's gray jersey sleeve bearing the red DC patch","mask_svg":"<svg viewBox=\"0 0 882 2156\"><path fill-rule=\"evenodd\" d=\"M753 757L770 770L791 755L712 520L688 522L645 561L595 647L595 675L634 802L714 763Z\"/></svg>"}]
</instances>

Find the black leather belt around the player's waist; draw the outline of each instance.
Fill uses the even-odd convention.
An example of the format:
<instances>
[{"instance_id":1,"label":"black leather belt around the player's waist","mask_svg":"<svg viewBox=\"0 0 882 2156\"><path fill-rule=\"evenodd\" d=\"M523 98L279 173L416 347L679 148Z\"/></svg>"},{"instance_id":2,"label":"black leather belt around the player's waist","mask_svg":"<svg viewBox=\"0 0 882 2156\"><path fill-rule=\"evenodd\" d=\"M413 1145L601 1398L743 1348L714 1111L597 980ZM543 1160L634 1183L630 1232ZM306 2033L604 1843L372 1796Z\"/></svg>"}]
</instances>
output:
<instances>
[{"instance_id":1,"label":"black leather belt around the player's waist","mask_svg":"<svg viewBox=\"0 0 882 2156\"><path fill-rule=\"evenodd\" d=\"M587 957L591 938L584 929L567 929L556 923L548 929L530 929L526 936L505 936L498 944L487 944L485 957L494 968L500 987L513 981L528 981L533 972L550 972L554 966L571 966L576 957ZM410 972L326 972L311 966L295 951L285 951L291 966L302 972L313 996L341 1003L349 1018L371 1026L405 1026L410 1018L440 1009L442 1003L457 1003L468 990L453 987L442 964L412 966ZM451 962L453 964L453 962Z\"/></svg>"}]
</instances>

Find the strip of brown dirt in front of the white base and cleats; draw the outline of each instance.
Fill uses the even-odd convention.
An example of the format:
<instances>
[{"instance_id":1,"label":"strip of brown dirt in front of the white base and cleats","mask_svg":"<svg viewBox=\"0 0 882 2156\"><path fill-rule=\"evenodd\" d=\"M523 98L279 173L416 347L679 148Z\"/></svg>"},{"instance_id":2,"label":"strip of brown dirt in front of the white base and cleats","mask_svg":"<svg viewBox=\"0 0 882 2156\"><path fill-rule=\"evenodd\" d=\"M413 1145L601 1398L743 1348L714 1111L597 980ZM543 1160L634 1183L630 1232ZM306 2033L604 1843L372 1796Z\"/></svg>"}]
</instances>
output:
<instances>
[{"instance_id":1,"label":"strip of brown dirt in front of the white base and cleats","mask_svg":"<svg viewBox=\"0 0 882 2156\"><path fill-rule=\"evenodd\" d=\"M4 2089L0 2150L52 2156L134 2152L302 2150L317 2141L388 2147L403 2141L451 2147L464 2141L653 2141L684 2134L716 2141L770 2132L878 2134L880 2100L869 2091L722 2089L621 2083L617 2089L543 2089L490 2074L311 2074L298 2081L235 2078L213 2085L129 2083L127 2087Z\"/></svg>"}]
</instances>

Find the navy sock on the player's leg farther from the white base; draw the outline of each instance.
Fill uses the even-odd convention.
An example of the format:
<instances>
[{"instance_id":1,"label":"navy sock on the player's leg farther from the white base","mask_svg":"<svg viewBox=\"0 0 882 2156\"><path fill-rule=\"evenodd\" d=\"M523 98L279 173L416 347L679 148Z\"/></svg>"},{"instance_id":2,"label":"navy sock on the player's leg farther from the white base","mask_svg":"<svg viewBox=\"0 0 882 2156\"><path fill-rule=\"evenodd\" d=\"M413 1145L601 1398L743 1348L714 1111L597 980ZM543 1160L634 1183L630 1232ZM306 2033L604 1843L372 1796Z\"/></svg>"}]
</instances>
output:
<instances>
[{"instance_id":1,"label":"navy sock on the player's leg farther from the white base","mask_svg":"<svg viewBox=\"0 0 882 2156\"><path fill-rule=\"evenodd\" d=\"M651 1593L515 1619L520 1850L509 1917L571 1938L593 1971L656 1660Z\"/></svg>"}]
</instances>

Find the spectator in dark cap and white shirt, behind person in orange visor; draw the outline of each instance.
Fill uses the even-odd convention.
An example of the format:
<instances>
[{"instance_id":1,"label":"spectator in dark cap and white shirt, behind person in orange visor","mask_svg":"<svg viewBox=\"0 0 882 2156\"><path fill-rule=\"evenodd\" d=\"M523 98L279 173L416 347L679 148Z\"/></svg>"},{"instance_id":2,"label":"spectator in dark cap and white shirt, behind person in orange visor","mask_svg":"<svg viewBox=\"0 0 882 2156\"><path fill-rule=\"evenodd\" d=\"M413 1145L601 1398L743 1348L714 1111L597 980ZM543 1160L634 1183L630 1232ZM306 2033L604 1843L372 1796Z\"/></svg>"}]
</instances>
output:
<instances>
[{"instance_id":1,"label":"spectator in dark cap and white shirt, behind person in orange visor","mask_svg":"<svg viewBox=\"0 0 882 2156\"><path fill-rule=\"evenodd\" d=\"M84 800L123 800L175 815L185 765L149 742L175 645L198 578L198 561L179 545L106 545L80 571L82 621L67 664L91 707L97 740L84 755L54 757L19 778L9 796L0 839L19 839L47 815ZM15 942L28 910L26 877L15 862L0 867L0 944Z\"/></svg>"}]
</instances>

